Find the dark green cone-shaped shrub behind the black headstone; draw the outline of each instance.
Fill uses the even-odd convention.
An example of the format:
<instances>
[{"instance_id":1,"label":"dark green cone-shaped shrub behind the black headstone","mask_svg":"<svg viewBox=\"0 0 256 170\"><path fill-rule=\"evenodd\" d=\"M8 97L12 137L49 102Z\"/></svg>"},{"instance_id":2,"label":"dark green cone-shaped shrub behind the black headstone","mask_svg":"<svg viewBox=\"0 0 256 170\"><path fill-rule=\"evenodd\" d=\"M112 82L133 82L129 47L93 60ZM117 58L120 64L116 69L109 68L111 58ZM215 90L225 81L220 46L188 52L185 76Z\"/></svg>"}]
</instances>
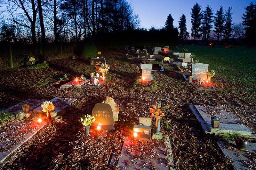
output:
<instances>
[{"instance_id":1,"label":"dark green cone-shaped shrub behind the black headstone","mask_svg":"<svg viewBox=\"0 0 256 170\"><path fill-rule=\"evenodd\" d=\"M93 57L97 57L97 56L98 56L98 50L97 50L96 46L93 44L92 40L85 39L82 57L93 58Z\"/></svg>"}]
</instances>

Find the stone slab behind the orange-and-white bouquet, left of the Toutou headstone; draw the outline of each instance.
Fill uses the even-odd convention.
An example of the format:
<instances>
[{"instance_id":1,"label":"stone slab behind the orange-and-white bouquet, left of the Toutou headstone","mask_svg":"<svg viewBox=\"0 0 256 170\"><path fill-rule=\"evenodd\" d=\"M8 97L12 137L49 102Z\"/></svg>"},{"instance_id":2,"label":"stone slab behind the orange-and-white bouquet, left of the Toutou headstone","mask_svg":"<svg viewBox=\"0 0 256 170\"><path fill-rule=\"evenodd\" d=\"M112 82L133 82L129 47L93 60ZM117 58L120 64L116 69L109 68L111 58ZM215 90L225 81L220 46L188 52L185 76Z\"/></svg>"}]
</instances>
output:
<instances>
[{"instance_id":1,"label":"stone slab behind the orange-and-white bouquet, left of the Toutou headstone","mask_svg":"<svg viewBox=\"0 0 256 170\"><path fill-rule=\"evenodd\" d=\"M45 101L45 100L44 100ZM76 99L71 99L71 98L61 98L61 97L55 97L52 100L50 100L54 106L56 107L55 112L58 114L60 113L61 110L65 109L67 106L71 105L71 103L75 102ZM42 102L43 103L43 102ZM33 112L41 114L44 113L43 108L41 105L37 107L36 109L33 110Z\"/></svg>"}]
</instances>

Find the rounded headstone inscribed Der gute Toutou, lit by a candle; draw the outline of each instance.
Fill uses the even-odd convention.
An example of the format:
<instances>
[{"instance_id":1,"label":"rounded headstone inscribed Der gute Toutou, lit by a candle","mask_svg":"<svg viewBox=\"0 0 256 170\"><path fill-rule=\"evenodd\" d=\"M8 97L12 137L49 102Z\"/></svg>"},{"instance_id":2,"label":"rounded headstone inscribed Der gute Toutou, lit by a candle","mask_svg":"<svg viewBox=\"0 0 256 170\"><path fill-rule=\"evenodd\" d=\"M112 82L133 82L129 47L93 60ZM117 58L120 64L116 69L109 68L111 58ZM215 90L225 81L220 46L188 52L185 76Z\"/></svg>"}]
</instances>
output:
<instances>
[{"instance_id":1,"label":"rounded headstone inscribed Der gute Toutou, lit by a candle","mask_svg":"<svg viewBox=\"0 0 256 170\"><path fill-rule=\"evenodd\" d=\"M97 103L92 109L92 116L96 119L91 125L91 129L95 130L97 126L101 129L114 130L114 113L107 103Z\"/></svg>"}]
</instances>

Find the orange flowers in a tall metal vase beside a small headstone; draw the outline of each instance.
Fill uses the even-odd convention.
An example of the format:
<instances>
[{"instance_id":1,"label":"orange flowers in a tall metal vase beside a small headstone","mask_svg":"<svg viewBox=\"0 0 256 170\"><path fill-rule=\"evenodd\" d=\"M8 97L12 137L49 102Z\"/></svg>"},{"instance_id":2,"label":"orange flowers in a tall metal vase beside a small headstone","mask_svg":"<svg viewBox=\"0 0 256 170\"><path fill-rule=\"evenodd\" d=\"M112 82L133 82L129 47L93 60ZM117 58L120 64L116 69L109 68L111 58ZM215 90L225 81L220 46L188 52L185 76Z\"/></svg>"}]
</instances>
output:
<instances>
[{"instance_id":1,"label":"orange flowers in a tall metal vase beside a small headstone","mask_svg":"<svg viewBox=\"0 0 256 170\"><path fill-rule=\"evenodd\" d=\"M154 132L156 135L159 134L160 131L160 120L161 117L164 116L163 111L160 110L161 108L161 102L158 102L156 105L152 105L152 108L149 109L151 116L150 117L156 117L156 124L154 128Z\"/></svg>"}]
</instances>

